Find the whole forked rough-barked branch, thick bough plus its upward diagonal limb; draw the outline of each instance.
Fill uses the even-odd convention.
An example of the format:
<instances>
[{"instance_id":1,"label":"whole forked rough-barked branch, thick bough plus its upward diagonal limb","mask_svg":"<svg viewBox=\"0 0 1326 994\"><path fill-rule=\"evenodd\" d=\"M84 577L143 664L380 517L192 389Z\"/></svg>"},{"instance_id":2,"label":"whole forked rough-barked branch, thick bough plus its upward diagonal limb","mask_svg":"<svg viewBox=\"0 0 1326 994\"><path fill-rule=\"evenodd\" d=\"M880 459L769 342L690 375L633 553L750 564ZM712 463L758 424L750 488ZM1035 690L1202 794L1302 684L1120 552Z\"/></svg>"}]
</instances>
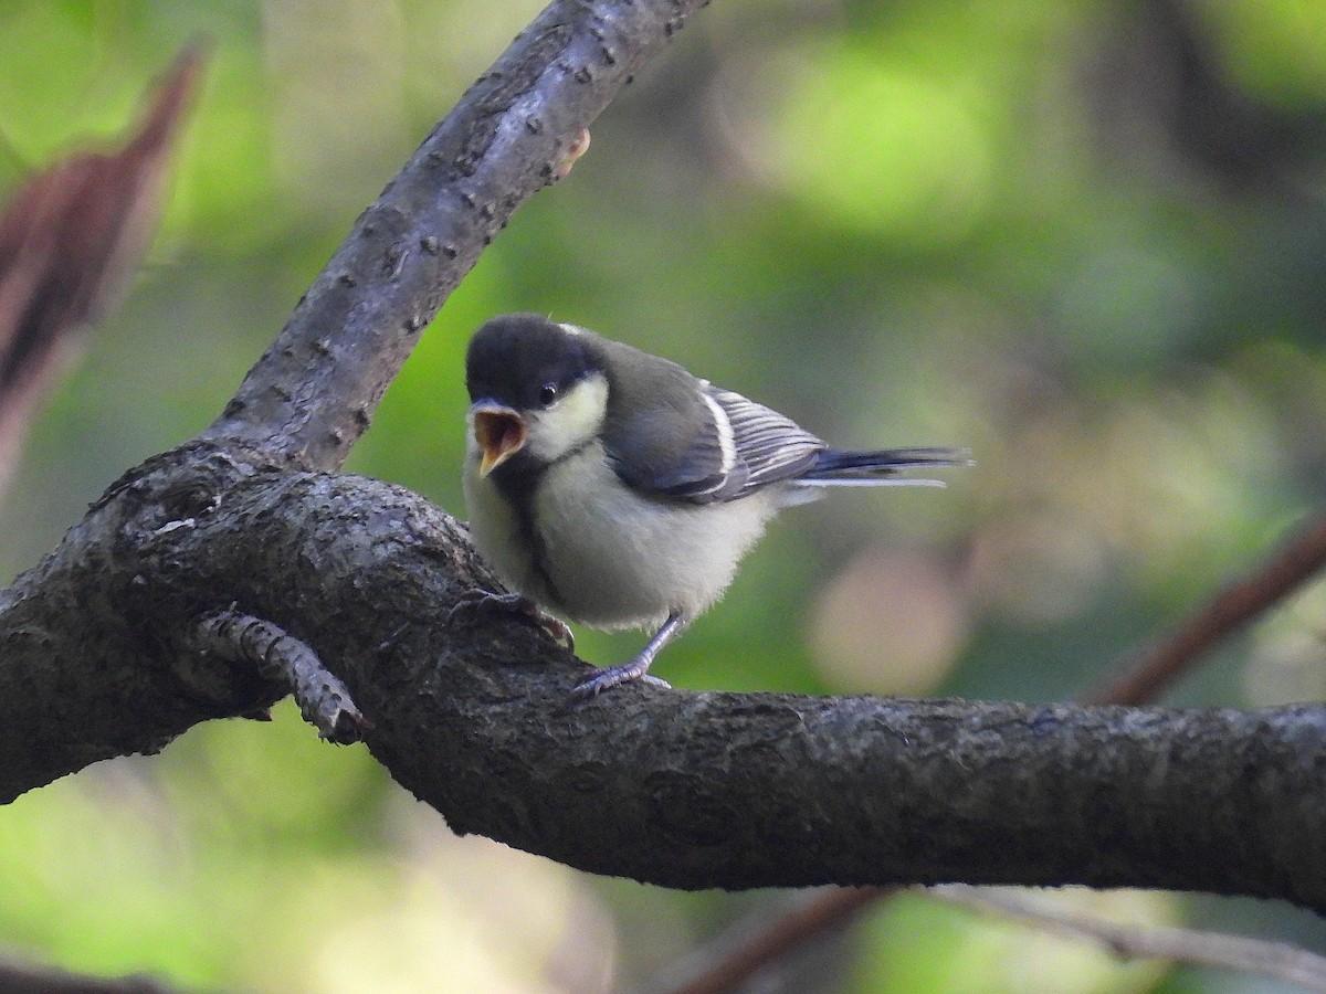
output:
<instances>
[{"instance_id":1,"label":"whole forked rough-barked branch, thick bough plus its upward diagonal limb","mask_svg":"<svg viewBox=\"0 0 1326 994\"><path fill-rule=\"evenodd\" d=\"M1087 883L1326 909L1326 709L1025 708L625 687L518 620L464 529L339 465L423 323L695 3L560 3L359 220L203 439L125 476L0 592L0 799L285 688L199 651L309 647L460 832L686 888ZM472 201L472 203L471 203ZM239 661L235 661L239 660Z\"/></svg>"}]
</instances>

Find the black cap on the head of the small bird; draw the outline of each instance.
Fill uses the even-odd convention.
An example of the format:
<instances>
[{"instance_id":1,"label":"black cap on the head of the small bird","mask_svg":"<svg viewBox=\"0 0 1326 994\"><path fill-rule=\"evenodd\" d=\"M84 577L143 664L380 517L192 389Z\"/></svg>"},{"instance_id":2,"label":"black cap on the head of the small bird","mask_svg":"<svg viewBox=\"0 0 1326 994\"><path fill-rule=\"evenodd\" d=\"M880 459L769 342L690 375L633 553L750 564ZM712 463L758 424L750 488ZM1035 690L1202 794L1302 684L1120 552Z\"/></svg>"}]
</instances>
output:
<instances>
[{"instance_id":1,"label":"black cap on the head of the small bird","mask_svg":"<svg viewBox=\"0 0 1326 994\"><path fill-rule=\"evenodd\" d=\"M469 339L469 399L492 399L528 411L546 406L577 380L602 371L597 337L568 331L542 314L503 314Z\"/></svg>"}]
</instances>

